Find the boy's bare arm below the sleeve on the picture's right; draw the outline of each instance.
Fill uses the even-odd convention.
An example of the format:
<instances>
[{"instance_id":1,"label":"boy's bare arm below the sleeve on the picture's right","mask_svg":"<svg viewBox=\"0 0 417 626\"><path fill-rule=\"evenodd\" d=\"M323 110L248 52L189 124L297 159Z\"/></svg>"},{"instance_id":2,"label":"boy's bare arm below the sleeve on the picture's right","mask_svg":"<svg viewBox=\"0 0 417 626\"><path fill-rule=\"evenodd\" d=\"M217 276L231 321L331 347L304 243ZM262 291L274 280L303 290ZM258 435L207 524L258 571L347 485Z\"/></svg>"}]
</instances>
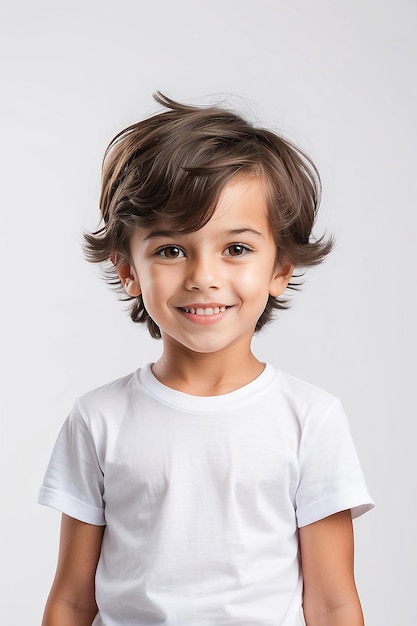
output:
<instances>
[{"instance_id":1,"label":"boy's bare arm below the sleeve on the picture's right","mask_svg":"<svg viewBox=\"0 0 417 626\"><path fill-rule=\"evenodd\" d=\"M363 626L350 511L304 526L299 536L307 626Z\"/></svg>"}]
</instances>

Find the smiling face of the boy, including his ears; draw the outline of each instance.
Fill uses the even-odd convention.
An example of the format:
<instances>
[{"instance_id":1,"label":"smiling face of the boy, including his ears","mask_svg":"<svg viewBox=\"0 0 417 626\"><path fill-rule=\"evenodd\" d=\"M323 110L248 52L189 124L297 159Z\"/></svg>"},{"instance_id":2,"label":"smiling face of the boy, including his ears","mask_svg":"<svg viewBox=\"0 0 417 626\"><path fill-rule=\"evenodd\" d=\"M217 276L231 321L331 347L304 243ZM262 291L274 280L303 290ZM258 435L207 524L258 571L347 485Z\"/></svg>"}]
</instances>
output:
<instances>
[{"instance_id":1,"label":"smiling face of the boy, including his ears","mask_svg":"<svg viewBox=\"0 0 417 626\"><path fill-rule=\"evenodd\" d=\"M250 346L268 296L280 295L293 267L277 264L262 181L226 185L210 221L176 233L163 222L137 228L132 265L119 267L129 295L142 293L164 343L211 353Z\"/></svg>"}]
</instances>

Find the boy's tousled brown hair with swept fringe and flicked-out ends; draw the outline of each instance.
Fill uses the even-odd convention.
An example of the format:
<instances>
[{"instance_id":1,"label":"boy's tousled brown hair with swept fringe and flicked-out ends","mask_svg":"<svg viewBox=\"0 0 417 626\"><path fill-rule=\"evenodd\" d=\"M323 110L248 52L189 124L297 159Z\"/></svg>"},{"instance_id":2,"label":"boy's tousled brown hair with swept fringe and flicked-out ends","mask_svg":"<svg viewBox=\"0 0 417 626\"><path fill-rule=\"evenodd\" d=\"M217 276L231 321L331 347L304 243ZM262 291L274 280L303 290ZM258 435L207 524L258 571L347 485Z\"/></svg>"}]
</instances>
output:
<instances>
[{"instance_id":1,"label":"boy's tousled brown hair with swept fringe and flicked-out ends","mask_svg":"<svg viewBox=\"0 0 417 626\"><path fill-rule=\"evenodd\" d=\"M309 157L287 139L222 107L180 104L160 92L154 99L168 110L122 130L107 147L100 198L103 225L84 235L89 261L107 262L117 255L129 262L132 230L148 228L161 218L174 231L202 228L223 187L237 173L265 182L279 258L299 268L323 260L332 240L311 236L321 185ZM113 264L106 274L123 290ZM290 289L296 287L289 283ZM274 309L286 306L286 299L270 296L256 330L271 319ZM153 337L161 336L141 295L133 299L130 316L134 322L146 322Z\"/></svg>"}]
</instances>

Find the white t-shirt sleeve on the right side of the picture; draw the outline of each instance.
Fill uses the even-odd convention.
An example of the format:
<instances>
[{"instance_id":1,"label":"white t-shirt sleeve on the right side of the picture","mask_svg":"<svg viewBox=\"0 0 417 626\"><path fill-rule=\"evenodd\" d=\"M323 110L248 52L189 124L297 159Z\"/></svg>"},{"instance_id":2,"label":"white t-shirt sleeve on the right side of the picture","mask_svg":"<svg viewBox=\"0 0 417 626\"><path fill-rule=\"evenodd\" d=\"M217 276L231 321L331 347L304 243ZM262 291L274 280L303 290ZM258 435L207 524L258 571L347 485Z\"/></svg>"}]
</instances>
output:
<instances>
[{"instance_id":1,"label":"white t-shirt sleeve on the right side of the picture","mask_svg":"<svg viewBox=\"0 0 417 626\"><path fill-rule=\"evenodd\" d=\"M307 420L299 455L299 527L348 509L355 518L374 507L339 400Z\"/></svg>"}]
</instances>

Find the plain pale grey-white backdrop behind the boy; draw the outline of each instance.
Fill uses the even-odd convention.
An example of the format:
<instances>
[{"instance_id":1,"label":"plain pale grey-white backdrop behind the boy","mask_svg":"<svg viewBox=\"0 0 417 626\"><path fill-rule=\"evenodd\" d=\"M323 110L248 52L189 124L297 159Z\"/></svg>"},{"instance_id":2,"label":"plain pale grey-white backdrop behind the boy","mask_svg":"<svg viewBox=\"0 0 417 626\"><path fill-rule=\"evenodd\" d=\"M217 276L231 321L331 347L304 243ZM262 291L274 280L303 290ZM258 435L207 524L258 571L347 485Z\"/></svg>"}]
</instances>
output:
<instances>
[{"instance_id":1,"label":"plain pale grey-white backdrop behind the boy","mask_svg":"<svg viewBox=\"0 0 417 626\"><path fill-rule=\"evenodd\" d=\"M74 398L160 353L80 246L107 143L159 89L320 169L336 248L254 349L341 397L377 503L355 522L366 623L415 626L415 0L3 0L0 29L1 623L41 620L59 514L37 492Z\"/></svg>"}]
</instances>

